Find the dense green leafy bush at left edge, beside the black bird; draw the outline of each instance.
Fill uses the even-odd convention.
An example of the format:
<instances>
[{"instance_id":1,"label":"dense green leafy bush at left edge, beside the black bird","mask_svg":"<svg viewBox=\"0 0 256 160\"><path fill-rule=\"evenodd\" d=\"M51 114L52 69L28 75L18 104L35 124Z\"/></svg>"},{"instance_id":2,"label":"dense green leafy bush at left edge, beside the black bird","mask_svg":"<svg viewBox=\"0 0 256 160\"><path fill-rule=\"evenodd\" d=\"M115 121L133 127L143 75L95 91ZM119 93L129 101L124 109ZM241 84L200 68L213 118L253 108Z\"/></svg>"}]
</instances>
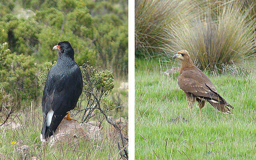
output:
<instances>
[{"instance_id":1,"label":"dense green leafy bush at left edge, beside the black bird","mask_svg":"<svg viewBox=\"0 0 256 160\"><path fill-rule=\"evenodd\" d=\"M22 100L36 99L36 65L31 56L16 55L5 42L0 44L0 87Z\"/></svg>"}]
</instances>

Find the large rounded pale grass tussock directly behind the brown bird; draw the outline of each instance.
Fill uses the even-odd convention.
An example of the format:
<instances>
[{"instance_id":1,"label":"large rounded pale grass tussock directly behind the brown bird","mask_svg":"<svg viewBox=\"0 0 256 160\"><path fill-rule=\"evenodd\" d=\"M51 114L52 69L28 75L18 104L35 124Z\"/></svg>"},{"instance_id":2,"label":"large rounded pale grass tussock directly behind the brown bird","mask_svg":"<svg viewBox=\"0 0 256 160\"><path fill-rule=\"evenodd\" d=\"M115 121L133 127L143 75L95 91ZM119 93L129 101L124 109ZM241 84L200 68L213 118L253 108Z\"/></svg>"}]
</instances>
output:
<instances>
[{"instance_id":1,"label":"large rounded pale grass tussock directly behind the brown bird","mask_svg":"<svg viewBox=\"0 0 256 160\"><path fill-rule=\"evenodd\" d=\"M229 4L219 10L216 18L208 12L190 24L173 26L169 34L170 52L188 50L202 70L247 58L255 43L254 21L248 21L248 12L241 10L241 5Z\"/></svg>"}]
</instances>

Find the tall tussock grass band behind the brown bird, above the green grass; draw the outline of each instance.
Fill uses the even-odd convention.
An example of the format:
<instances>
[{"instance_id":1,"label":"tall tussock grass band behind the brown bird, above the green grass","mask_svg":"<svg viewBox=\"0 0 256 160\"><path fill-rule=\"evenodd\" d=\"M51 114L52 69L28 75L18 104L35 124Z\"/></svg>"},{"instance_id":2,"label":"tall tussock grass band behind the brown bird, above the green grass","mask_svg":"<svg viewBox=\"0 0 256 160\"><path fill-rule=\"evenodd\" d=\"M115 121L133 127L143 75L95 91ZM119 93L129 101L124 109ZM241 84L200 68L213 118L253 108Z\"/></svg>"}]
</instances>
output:
<instances>
[{"instance_id":1,"label":"tall tussock grass band behind the brown bird, above the green grass","mask_svg":"<svg viewBox=\"0 0 256 160\"><path fill-rule=\"evenodd\" d=\"M200 69L255 55L253 0L136 0L136 57L168 58L186 49Z\"/></svg>"}]
</instances>

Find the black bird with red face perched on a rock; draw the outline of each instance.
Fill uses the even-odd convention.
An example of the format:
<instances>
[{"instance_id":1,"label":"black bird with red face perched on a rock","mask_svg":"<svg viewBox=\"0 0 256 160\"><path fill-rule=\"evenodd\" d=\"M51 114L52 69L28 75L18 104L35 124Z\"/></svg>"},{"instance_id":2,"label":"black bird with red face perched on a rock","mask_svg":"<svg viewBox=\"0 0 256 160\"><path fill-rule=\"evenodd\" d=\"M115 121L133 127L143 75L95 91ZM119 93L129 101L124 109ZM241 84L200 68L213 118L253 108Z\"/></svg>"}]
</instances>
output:
<instances>
[{"instance_id":1,"label":"black bird with red face perched on a rock","mask_svg":"<svg viewBox=\"0 0 256 160\"><path fill-rule=\"evenodd\" d=\"M70 43L59 42L52 50L58 50L58 60L50 69L44 86L41 141L54 134L67 114L66 119L73 120L69 111L75 108L83 87L82 73L74 60L74 50Z\"/></svg>"}]
</instances>

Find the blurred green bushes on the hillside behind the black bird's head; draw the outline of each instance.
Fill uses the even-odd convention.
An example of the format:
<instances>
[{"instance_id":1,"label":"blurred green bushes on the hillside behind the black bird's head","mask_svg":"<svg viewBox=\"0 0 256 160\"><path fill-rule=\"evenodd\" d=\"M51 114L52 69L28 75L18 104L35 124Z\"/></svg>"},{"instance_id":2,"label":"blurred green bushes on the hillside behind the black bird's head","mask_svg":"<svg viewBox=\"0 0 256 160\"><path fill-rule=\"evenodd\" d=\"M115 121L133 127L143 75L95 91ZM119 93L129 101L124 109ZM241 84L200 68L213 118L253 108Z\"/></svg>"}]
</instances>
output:
<instances>
[{"instance_id":1,"label":"blurred green bushes on the hillside behind the black bird's head","mask_svg":"<svg viewBox=\"0 0 256 160\"><path fill-rule=\"evenodd\" d=\"M39 64L44 64L57 59L52 47L68 40L80 66L87 62L113 71L116 77L127 78L126 0L23 0L16 3L34 10L35 15L25 19L4 12L0 18L0 43L8 42L12 52L32 55Z\"/></svg>"}]
</instances>

